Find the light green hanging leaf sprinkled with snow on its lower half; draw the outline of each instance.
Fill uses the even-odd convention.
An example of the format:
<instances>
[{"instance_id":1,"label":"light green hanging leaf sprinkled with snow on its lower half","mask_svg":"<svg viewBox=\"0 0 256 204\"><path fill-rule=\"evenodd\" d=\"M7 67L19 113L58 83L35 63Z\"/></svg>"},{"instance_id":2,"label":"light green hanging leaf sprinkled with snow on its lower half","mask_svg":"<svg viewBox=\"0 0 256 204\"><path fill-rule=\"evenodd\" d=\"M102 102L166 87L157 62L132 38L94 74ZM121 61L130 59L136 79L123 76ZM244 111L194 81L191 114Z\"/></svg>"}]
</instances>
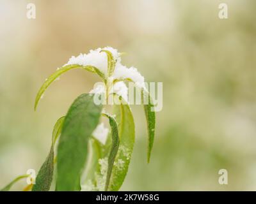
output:
<instances>
[{"instance_id":1,"label":"light green hanging leaf sprinkled with snow on its lower half","mask_svg":"<svg viewBox=\"0 0 256 204\"><path fill-rule=\"evenodd\" d=\"M135 139L134 120L129 105L115 105L114 114L118 122L120 146L112 170L109 191L118 191L122 186L131 161Z\"/></svg>"}]
</instances>

